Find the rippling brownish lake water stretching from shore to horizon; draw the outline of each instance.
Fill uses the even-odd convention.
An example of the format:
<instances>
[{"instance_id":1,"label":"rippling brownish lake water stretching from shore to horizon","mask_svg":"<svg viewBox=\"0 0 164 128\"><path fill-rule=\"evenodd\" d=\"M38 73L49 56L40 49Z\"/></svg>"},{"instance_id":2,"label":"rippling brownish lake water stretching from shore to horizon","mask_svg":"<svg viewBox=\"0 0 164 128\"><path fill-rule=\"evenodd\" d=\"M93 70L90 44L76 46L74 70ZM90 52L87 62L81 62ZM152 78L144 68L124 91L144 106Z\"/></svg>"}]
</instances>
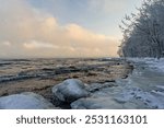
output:
<instances>
[{"instance_id":1,"label":"rippling brownish lake water stretching from shore to horizon","mask_svg":"<svg viewBox=\"0 0 164 128\"><path fill-rule=\"evenodd\" d=\"M51 86L67 79L105 83L125 78L131 69L121 59L1 59L0 95L35 92L51 97Z\"/></svg>"}]
</instances>

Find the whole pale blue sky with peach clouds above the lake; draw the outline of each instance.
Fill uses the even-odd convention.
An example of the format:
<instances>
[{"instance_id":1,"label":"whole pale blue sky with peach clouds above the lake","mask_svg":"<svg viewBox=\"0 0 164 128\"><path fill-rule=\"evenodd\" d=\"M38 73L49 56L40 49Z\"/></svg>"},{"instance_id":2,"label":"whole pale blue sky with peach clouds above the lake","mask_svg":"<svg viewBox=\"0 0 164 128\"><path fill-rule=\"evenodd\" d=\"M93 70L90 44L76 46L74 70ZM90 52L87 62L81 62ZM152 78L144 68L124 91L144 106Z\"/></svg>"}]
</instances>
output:
<instances>
[{"instance_id":1,"label":"whole pale blue sky with peach clouds above the lake","mask_svg":"<svg viewBox=\"0 0 164 128\"><path fill-rule=\"evenodd\" d=\"M0 58L117 57L142 0L0 0Z\"/></svg>"}]
</instances>

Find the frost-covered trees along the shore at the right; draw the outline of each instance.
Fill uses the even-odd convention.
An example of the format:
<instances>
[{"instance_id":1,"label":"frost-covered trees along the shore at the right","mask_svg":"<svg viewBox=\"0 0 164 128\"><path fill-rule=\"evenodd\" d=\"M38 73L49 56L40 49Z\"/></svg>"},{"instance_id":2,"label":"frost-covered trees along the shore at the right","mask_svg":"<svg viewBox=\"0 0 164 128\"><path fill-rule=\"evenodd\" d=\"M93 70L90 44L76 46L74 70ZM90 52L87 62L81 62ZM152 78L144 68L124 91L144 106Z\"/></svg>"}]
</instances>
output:
<instances>
[{"instance_id":1,"label":"frost-covered trees along the shore at the right","mask_svg":"<svg viewBox=\"0 0 164 128\"><path fill-rule=\"evenodd\" d=\"M121 21L120 57L164 57L164 0L144 0Z\"/></svg>"}]
</instances>

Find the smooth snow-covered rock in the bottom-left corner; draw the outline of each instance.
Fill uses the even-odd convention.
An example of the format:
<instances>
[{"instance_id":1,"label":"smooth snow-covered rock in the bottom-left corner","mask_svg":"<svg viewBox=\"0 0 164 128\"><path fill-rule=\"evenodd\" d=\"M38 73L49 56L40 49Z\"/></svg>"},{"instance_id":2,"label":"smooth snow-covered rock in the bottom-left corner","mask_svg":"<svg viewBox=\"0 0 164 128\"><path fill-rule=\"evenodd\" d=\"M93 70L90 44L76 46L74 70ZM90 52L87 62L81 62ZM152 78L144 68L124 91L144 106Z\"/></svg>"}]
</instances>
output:
<instances>
[{"instance_id":1,"label":"smooth snow-covered rock in the bottom-left corner","mask_svg":"<svg viewBox=\"0 0 164 128\"><path fill-rule=\"evenodd\" d=\"M1 109L48 109L55 106L43 96L26 92L0 97Z\"/></svg>"}]
</instances>

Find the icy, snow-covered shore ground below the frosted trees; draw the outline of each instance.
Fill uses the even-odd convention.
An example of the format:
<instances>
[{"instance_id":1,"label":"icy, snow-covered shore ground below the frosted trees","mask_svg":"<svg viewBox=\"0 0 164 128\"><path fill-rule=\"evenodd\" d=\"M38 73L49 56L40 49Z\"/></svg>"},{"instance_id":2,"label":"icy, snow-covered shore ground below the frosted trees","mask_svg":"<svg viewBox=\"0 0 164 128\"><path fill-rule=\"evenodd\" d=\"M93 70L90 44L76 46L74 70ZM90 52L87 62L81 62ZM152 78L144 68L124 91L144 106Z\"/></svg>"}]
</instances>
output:
<instances>
[{"instance_id":1,"label":"icy, snow-covered shore ground below the frosted trees","mask_svg":"<svg viewBox=\"0 0 164 128\"><path fill-rule=\"evenodd\" d=\"M90 97L73 102L71 106L73 108L164 108L164 59L129 58L128 61L134 66L134 70L127 79L117 80L118 86L102 88L99 84L101 90Z\"/></svg>"}]
</instances>

